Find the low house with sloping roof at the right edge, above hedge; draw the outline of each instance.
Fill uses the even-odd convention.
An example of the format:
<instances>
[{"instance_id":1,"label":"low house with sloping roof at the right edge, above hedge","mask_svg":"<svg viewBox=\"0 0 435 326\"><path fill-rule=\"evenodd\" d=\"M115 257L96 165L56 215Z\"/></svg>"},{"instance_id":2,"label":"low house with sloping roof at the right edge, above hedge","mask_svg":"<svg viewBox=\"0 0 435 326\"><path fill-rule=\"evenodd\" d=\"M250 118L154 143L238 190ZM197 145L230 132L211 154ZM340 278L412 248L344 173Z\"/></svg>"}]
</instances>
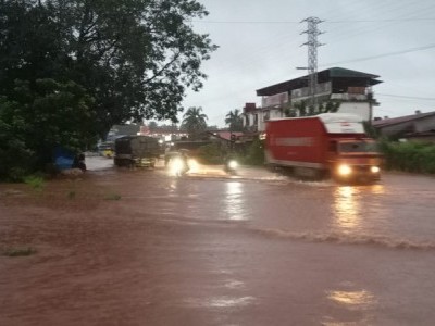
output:
<instances>
[{"instance_id":1,"label":"low house with sloping roof at the right edge, above hedge","mask_svg":"<svg viewBox=\"0 0 435 326\"><path fill-rule=\"evenodd\" d=\"M377 117L372 125L381 136L435 141L435 111L415 111L415 114L393 118Z\"/></svg>"}]
</instances>

